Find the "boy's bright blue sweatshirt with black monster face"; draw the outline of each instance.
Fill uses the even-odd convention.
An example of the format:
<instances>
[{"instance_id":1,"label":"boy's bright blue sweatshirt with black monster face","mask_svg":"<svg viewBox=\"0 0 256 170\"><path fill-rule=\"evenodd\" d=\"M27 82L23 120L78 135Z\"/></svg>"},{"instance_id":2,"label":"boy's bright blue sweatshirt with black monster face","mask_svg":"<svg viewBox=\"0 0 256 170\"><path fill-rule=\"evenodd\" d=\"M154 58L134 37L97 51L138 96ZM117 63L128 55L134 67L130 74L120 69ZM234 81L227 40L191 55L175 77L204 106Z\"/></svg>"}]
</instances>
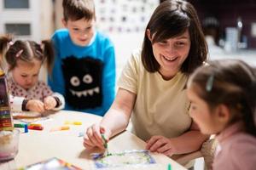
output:
<instances>
[{"instance_id":1,"label":"boy's bright blue sweatshirt with black monster face","mask_svg":"<svg viewBox=\"0 0 256 170\"><path fill-rule=\"evenodd\" d=\"M93 42L74 44L67 29L55 31L55 64L48 82L65 97L65 110L104 116L113 103L115 54L113 43L96 31Z\"/></svg>"}]
</instances>

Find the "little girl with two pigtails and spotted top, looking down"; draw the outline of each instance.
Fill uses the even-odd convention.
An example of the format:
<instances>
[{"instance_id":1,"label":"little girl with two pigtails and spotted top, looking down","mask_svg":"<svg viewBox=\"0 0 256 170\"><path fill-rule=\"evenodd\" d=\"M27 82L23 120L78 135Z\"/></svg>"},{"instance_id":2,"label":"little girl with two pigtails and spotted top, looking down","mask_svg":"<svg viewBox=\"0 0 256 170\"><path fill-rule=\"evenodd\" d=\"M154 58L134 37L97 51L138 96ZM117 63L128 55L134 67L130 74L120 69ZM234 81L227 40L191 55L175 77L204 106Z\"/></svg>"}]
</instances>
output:
<instances>
[{"instance_id":1,"label":"little girl with two pigtails and spotted top, looking down","mask_svg":"<svg viewBox=\"0 0 256 170\"><path fill-rule=\"evenodd\" d=\"M44 62L48 72L52 70L54 51L49 40L41 44L21 40L13 42L11 36L2 36L0 56L1 66L8 72L12 111L42 113L64 108L63 96L53 93L44 82L38 80Z\"/></svg>"}]
</instances>

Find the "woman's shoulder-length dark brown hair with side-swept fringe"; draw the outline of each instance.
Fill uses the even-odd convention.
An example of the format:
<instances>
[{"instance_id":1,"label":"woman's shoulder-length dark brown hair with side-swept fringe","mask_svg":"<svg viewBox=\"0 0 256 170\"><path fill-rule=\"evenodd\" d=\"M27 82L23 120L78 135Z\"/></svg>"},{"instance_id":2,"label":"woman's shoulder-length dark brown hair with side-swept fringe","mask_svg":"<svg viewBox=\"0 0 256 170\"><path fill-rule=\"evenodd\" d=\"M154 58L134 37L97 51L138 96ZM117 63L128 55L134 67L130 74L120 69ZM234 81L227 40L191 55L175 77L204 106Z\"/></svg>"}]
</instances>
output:
<instances>
[{"instance_id":1,"label":"woman's shoulder-length dark brown hair with side-swept fringe","mask_svg":"<svg viewBox=\"0 0 256 170\"><path fill-rule=\"evenodd\" d=\"M151 36L154 35L152 42L148 39L147 30L150 31ZM207 42L195 8L182 0L160 3L154 10L144 35L142 60L145 69L149 72L160 69L159 63L154 58L152 43L177 37L187 30L189 30L191 46L181 71L190 74L207 59Z\"/></svg>"}]
</instances>

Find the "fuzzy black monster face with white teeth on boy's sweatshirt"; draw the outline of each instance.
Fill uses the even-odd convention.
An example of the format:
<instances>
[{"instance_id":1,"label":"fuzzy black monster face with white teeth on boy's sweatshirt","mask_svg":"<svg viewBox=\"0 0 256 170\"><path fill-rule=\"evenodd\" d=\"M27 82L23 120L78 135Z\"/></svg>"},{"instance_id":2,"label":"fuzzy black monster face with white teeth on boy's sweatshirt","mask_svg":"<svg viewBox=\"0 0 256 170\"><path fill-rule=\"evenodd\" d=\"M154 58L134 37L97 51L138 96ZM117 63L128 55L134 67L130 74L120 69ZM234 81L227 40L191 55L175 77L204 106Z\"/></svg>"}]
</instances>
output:
<instances>
[{"instance_id":1,"label":"fuzzy black monster face with white teeth on boy's sweatshirt","mask_svg":"<svg viewBox=\"0 0 256 170\"><path fill-rule=\"evenodd\" d=\"M65 98L77 109L102 105L102 61L91 57L81 59L69 56L62 59L65 77Z\"/></svg>"}]
</instances>

